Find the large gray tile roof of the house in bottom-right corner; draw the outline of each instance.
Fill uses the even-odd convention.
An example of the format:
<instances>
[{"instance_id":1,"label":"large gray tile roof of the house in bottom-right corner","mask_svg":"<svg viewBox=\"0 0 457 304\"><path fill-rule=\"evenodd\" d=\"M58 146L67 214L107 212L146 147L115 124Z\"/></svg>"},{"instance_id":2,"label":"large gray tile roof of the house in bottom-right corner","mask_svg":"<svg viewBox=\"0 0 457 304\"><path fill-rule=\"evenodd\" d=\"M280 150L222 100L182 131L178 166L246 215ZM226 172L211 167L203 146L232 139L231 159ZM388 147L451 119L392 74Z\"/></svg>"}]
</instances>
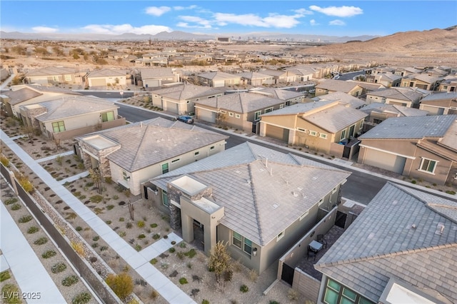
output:
<instances>
[{"instance_id":1,"label":"large gray tile roof of the house in bottom-right corner","mask_svg":"<svg viewBox=\"0 0 457 304\"><path fill-rule=\"evenodd\" d=\"M388 182L315 268L374 302L400 278L456 303L456 209L456 201Z\"/></svg>"}]
</instances>

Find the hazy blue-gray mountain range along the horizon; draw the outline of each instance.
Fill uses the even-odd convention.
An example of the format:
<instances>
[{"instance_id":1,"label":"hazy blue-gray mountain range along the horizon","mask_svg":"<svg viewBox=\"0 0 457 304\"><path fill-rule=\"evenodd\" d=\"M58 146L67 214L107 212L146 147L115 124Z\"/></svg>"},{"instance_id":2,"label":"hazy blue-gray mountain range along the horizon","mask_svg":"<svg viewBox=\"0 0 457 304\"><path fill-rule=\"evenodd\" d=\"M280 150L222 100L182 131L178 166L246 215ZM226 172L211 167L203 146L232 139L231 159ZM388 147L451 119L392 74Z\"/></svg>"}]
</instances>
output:
<instances>
[{"instance_id":1,"label":"hazy blue-gray mountain range along the horizon","mask_svg":"<svg viewBox=\"0 0 457 304\"><path fill-rule=\"evenodd\" d=\"M107 34L56 34L56 33L21 33L19 31L6 32L0 31L1 39L22 39L22 40L69 40L69 41L139 41L139 40L160 40L160 41L205 41L216 39L218 36L233 37L234 39L246 40L254 38L258 40L271 41L328 41L341 43L346 41L366 41L376 38L376 36L356 36L356 37L340 37L340 36L325 36L325 35L307 35L307 34L286 34L286 33L249 33L249 34L192 34L185 31L162 31L155 35L149 34L134 34L124 33L121 35Z\"/></svg>"}]
</instances>

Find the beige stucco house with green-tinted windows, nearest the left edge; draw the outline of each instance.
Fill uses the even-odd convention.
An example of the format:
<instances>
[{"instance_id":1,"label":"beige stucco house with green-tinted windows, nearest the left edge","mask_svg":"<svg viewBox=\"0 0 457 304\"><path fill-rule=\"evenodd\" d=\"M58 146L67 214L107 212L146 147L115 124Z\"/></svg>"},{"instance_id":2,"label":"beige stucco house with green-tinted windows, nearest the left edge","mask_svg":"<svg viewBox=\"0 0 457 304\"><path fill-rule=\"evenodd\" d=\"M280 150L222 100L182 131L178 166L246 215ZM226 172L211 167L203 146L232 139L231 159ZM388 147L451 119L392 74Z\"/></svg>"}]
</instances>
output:
<instances>
[{"instance_id":1,"label":"beige stucco house with green-tinted windows, nearest the left edge","mask_svg":"<svg viewBox=\"0 0 457 304\"><path fill-rule=\"evenodd\" d=\"M111 101L94 96L59 98L19 107L25 125L57 139L125 125L126 119L118 115L118 108Z\"/></svg>"}]
</instances>

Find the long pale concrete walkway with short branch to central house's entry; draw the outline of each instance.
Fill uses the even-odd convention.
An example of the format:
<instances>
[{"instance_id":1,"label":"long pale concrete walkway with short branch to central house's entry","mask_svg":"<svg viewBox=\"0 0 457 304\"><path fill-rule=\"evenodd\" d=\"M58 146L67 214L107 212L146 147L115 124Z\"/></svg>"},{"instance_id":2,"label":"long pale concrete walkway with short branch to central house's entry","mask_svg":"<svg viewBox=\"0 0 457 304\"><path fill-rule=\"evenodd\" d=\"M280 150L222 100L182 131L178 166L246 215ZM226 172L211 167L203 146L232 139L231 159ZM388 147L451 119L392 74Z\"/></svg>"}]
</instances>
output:
<instances>
[{"instance_id":1,"label":"long pale concrete walkway with short branch to central house's entry","mask_svg":"<svg viewBox=\"0 0 457 304\"><path fill-rule=\"evenodd\" d=\"M61 200L73 209L78 214L79 218L85 221L91 228L100 235L101 238L109 243L111 248L123 258L130 267L136 270L149 285L151 285L163 298L169 303L195 303L189 295L184 293L178 286L176 286L169 278L157 270L149 260L156 255L171 248L171 241L179 243L182 239L174 233L170 233L169 238L156 242L149 247L137 252L129 245L123 238L121 238L116 231L111 229L99 216L86 207L84 203L79 201L70 191L56 181L39 163L37 163L29 154L27 154L19 145L17 145L11 138L9 138L4 131L0 130L1 140L8 146L11 151L21 158L21 161L31 168L49 188L51 188ZM168 245L168 247L167 247ZM152 246L152 247L151 247Z\"/></svg>"}]
</instances>

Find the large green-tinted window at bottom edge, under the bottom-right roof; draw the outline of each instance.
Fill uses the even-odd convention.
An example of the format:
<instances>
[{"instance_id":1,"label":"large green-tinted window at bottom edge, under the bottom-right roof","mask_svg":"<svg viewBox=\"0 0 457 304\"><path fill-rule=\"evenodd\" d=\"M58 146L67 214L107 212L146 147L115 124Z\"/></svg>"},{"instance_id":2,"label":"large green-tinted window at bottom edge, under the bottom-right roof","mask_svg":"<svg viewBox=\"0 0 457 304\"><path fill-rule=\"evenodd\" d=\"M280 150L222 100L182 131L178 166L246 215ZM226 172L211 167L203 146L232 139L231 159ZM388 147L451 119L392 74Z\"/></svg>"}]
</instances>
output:
<instances>
[{"instance_id":1,"label":"large green-tinted window at bottom edge, under the bottom-right roof","mask_svg":"<svg viewBox=\"0 0 457 304\"><path fill-rule=\"evenodd\" d=\"M358 293L344 285L327 279L326 290L323 293L323 303L327 304L373 304L371 300L363 298Z\"/></svg>"}]
</instances>

